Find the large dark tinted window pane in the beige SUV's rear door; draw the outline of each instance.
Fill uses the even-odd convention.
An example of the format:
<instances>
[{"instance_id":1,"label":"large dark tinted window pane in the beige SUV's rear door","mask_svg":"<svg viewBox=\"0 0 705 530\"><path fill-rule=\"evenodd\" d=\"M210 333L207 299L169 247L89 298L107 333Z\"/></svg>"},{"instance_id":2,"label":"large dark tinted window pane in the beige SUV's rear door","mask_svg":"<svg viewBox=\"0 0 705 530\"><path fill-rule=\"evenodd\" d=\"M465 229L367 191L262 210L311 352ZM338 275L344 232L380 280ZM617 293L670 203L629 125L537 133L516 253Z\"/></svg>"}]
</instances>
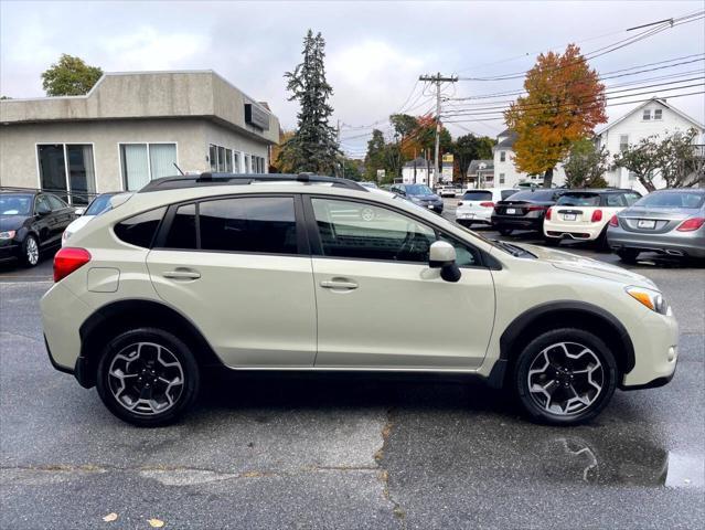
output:
<instances>
[{"instance_id":1,"label":"large dark tinted window pane in the beige SUV's rear door","mask_svg":"<svg viewBox=\"0 0 705 530\"><path fill-rule=\"evenodd\" d=\"M297 254L291 197L221 199L199 204L204 251Z\"/></svg>"}]
</instances>

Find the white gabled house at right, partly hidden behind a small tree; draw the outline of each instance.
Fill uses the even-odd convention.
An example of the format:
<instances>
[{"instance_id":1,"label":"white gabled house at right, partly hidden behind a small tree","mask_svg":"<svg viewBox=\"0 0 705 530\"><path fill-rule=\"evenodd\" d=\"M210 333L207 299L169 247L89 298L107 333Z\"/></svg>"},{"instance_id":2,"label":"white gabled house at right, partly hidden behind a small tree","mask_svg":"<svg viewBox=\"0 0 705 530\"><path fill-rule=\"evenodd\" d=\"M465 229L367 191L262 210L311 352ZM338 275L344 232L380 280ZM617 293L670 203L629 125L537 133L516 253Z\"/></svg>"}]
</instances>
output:
<instances>
[{"instance_id":1,"label":"white gabled house at right, partly hidden behind a small tree","mask_svg":"<svg viewBox=\"0 0 705 530\"><path fill-rule=\"evenodd\" d=\"M697 130L693 142L705 144L705 128L702 124L667 104L665 99L653 97L602 128L597 134L597 142L598 146L605 146L613 156L628 145L639 144L649 136L659 135L663 138L676 131L685 132L691 128ZM641 193L647 192L635 176L630 174L624 168L608 171L605 179L609 186L616 188L631 188ZM659 176L654 178L654 184L656 188L665 186Z\"/></svg>"}]
</instances>

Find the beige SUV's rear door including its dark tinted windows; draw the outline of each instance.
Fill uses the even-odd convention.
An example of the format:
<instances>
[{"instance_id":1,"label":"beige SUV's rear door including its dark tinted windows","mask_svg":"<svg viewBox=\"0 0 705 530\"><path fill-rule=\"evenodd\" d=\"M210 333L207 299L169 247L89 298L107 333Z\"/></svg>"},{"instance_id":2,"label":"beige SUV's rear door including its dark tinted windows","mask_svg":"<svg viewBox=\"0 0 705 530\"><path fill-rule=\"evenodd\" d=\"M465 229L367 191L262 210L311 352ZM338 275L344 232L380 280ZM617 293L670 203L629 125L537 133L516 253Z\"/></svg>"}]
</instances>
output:
<instances>
[{"instance_id":1,"label":"beige SUV's rear door including its dark tinted windows","mask_svg":"<svg viewBox=\"0 0 705 530\"><path fill-rule=\"evenodd\" d=\"M297 195L172 205L147 258L159 296L229 367L312 367L316 300Z\"/></svg>"}]
</instances>

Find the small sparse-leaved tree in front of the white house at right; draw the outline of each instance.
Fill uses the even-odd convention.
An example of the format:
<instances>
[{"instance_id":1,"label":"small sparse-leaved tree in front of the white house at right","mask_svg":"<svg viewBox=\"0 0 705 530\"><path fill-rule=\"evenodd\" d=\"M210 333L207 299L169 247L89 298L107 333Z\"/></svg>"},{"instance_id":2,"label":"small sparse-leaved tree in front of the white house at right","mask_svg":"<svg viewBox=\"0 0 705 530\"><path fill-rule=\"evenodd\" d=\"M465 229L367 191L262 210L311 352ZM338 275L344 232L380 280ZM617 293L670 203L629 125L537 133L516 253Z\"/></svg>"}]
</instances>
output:
<instances>
[{"instance_id":1,"label":"small sparse-leaved tree in front of the white house at right","mask_svg":"<svg viewBox=\"0 0 705 530\"><path fill-rule=\"evenodd\" d=\"M667 188L690 188L702 183L705 180L703 160L693 146L696 135L695 129L690 129L685 135L674 132L663 140L659 139L659 135L642 138L616 155L615 166L634 173L649 191L656 189L656 176L665 181Z\"/></svg>"}]
</instances>

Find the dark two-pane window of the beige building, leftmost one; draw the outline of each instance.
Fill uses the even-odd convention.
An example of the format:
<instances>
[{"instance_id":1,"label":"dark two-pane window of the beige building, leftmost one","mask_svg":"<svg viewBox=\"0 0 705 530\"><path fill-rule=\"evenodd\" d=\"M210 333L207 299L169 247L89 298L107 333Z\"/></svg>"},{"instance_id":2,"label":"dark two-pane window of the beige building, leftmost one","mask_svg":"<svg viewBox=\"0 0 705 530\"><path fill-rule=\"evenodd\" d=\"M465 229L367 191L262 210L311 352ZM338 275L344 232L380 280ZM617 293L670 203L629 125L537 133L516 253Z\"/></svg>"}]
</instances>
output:
<instances>
[{"instance_id":1,"label":"dark two-pane window of the beige building, leftmost one","mask_svg":"<svg viewBox=\"0 0 705 530\"><path fill-rule=\"evenodd\" d=\"M89 144L38 145L40 186L71 204L88 204L96 192L95 161Z\"/></svg>"}]
</instances>

